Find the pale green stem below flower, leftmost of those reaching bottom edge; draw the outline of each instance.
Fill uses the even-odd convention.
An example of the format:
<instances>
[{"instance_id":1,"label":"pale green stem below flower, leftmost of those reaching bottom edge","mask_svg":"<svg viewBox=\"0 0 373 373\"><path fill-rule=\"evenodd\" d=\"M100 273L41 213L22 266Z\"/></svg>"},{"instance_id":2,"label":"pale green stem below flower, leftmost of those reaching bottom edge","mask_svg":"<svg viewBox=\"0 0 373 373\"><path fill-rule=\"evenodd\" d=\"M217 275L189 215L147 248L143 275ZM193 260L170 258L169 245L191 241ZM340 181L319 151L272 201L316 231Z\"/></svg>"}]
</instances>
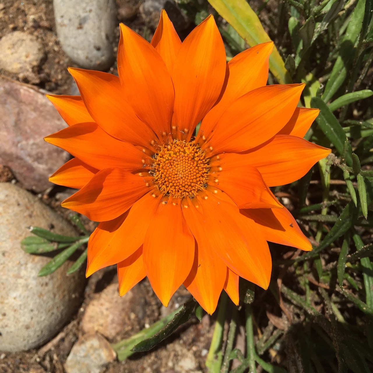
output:
<instances>
[{"instance_id":1,"label":"pale green stem below flower, leftmost of those reaching bottom edge","mask_svg":"<svg viewBox=\"0 0 373 373\"><path fill-rule=\"evenodd\" d=\"M219 373L222 365L222 345L225 313L227 309L228 295L225 291L220 296L219 310L217 312L217 319L215 323L214 334L212 336L209 353L206 358L206 368L209 373Z\"/></svg>"}]
</instances>

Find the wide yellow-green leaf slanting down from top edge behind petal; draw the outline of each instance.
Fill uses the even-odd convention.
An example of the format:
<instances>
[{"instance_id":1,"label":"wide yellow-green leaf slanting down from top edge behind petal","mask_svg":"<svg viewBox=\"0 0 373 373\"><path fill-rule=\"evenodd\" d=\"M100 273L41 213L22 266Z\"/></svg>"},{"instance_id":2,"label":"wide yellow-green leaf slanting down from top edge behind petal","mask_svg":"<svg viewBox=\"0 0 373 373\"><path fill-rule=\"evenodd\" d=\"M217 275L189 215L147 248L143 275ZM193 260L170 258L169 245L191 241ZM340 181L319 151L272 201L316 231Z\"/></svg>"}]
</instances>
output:
<instances>
[{"instance_id":1,"label":"wide yellow-green leaf slanting down from top edge behind petal","mask_svg":"<svg viewBox=\"0 0 373 373\"><path fill-rule=\"evenodd\" d=\"M245 0L209 0L209 3L251 47L271 41L258 16ZM292 83L276 47L269 57L269 69L280 84Z\"/></svg>"}]
</instances>

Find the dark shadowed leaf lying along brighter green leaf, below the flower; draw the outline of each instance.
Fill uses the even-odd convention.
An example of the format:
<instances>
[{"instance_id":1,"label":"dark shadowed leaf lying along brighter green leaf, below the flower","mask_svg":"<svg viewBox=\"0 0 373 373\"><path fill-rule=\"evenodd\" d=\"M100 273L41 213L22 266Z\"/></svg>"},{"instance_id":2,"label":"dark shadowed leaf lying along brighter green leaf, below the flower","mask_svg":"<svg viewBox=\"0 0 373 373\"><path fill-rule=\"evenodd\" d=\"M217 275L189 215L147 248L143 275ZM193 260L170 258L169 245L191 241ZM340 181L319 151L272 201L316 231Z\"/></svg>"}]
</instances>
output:
<instances>
[{"instance_id":1,"label":"dark shadowed leaf lying along brighter green leaf, below the flower","mask_svg":"<svg viewBox=\"0 0 373 373\"><path fill-rule=\"evenodd\" d=\"M168 338L180 325L186 323L192 315L195 301L191 300L184 304L184 307L173 317L173 319L158 333L141 341L132 348L132 352L149 351L157 344Z\"/></svg>"}]
</instances>

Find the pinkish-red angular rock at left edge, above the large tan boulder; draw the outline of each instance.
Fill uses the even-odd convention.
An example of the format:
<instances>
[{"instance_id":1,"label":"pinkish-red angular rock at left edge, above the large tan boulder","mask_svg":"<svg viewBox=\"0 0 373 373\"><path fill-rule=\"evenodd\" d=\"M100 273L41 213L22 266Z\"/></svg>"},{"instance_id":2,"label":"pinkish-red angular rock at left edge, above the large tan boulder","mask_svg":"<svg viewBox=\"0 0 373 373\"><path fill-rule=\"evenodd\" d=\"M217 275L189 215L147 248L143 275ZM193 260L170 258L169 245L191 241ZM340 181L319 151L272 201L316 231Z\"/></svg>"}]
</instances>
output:
<instances>
[{"instance_id":1,"label":"pinkish-red angular rock at left edge, above the large tan boulder","mask_svg":"<svg viewBox=\"0 0 373 373\"><path fill-rule=\"evenodd\" d=\"M43 137L66 126L44 94L0 77L0 164L27 189L41 192L53 185L48 176L69 155Z\"/></svg>"}]
</instances>

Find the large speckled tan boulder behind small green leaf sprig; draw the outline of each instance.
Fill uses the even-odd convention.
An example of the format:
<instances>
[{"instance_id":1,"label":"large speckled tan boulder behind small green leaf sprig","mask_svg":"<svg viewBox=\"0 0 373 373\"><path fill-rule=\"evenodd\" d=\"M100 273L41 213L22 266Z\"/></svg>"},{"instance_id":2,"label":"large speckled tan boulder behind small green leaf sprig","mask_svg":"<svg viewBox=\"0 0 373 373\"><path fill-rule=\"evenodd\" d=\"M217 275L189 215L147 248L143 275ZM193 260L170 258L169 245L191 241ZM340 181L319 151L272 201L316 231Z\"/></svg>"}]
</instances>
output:
<instances>
[{"instance_id":1,"label":"large speckled tan boulder behind small green leaf sprig","mask_svg":"<svg viewBox=\"0 0 373 373\"><path fill-rule=\"evenodd\" d=\"M80 304L84 270L67 276L71 262L38 277L49 257L23 252L28 226L75 235L65 220L29 192L0 183L0 351L35 348L53 338Z\"/></svg>"}]
</instances>

